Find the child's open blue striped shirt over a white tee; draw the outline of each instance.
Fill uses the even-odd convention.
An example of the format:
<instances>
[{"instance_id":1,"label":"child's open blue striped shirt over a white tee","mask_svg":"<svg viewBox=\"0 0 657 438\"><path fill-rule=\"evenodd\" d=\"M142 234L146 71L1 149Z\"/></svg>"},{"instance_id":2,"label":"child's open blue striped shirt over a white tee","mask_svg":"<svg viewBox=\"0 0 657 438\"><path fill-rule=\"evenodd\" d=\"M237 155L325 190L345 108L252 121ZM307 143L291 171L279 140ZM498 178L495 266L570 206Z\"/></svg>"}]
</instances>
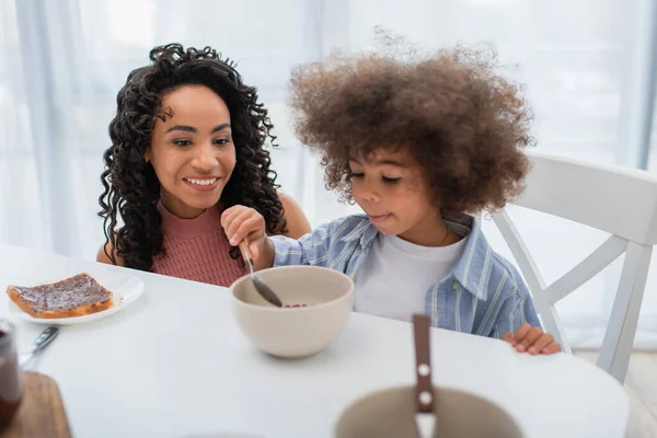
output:
<instances>
[{"instance_id":1,"label":"child's open blue striped shirt over a white tee","mask_svg":"<svg viewBox=\"0 0 657 438\"><path fill-rule=\"evenodd\" d=\"M425 313L431 325L481 336L502 337L520 324L541 326L525 281L508 261L495 253L479 220L446 218L449 228L468 239L463 255L447 277L427 290ZM274 237L274 266L313 265L354 278L379 231L362 215L325 223L299 240Z\"/></svg>"}]
</instances>

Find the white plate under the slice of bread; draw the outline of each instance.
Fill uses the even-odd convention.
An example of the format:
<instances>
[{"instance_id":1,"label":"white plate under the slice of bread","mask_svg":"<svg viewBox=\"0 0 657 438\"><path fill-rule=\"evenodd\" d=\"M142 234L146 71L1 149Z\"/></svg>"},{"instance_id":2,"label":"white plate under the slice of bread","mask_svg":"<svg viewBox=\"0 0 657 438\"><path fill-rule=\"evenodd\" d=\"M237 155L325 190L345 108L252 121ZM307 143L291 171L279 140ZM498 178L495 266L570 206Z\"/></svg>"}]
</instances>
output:
<instances>
[{"instance_id":1,"label":"white plate under the slice of bread","mask_svg":"<svg viewBox=\"0 0 657 438\"><path fill-rule=\"evenodd\" d=\"M110 309L103 310L101 312L90 313L82 316L70 316L70 318L34 318L28 313L25 313L14 304L13 301L9 300L9 310L11 313L23 321L30 321L36 324L47 324L47 325L71 325L71 324L82 324L85 322L101 320L103 318L111 316L117 312L120 312L135 301L141 297L143 293L143 281L141 281L137 277L132 277L127 274L118 274L118 273L110 273L110 272L97 272L97 273L89 273L97 283L100 283L105 289L110 290L114 293L114 306ZM43 281L37 281L35 285L45 285L49 283L55 283L67 277L60 277L55 279L47 279ZM16 285L16 286L26 286L26 285Z\"/></svg>"}]
</instances>

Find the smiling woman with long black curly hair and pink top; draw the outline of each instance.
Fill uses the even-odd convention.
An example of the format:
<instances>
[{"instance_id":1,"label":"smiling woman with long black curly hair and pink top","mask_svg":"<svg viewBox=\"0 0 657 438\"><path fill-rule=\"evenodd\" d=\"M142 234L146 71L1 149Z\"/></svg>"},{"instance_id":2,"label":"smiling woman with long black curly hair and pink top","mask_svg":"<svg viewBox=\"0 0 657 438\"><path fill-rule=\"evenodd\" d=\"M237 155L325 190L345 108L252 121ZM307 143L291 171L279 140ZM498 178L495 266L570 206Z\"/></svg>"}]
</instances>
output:
<instances>
[{"instance_id":1,"label":"smiling woman with long black curly hair and pink top","mask_svg":"<svg viewBox=\"0 0 657 438\"><path fill-rule=\"evenodd\" d=\"M264 149L275 138L256 89L209 47L155 47L150 60L116 99L97 261L229 286L245 266L220 226L223 209L253 208L269 234L299 238L310 224L276 192Z\"/></svg>"}]
</instances>

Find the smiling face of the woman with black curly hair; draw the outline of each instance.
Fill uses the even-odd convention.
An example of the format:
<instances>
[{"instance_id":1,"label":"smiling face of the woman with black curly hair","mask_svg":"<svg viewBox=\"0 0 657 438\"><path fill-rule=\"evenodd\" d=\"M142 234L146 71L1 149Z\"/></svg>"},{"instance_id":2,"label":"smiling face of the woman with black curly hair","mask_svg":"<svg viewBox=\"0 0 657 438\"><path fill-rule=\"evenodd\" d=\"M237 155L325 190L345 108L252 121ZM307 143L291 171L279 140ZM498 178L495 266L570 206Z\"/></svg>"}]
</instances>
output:
<instances>
[{"instance_id":1,"label":"smiling face of the woman with black curly hair","mask_svg":"<svg viewBox=\"0 0 657 438\"><path fill-rule=\"evenodd\" d=\"M166 209L181 218L200 215L219 201L235 168L228 106L204 85L166 92L143 158Z\"/></svg>"}]
</instances>

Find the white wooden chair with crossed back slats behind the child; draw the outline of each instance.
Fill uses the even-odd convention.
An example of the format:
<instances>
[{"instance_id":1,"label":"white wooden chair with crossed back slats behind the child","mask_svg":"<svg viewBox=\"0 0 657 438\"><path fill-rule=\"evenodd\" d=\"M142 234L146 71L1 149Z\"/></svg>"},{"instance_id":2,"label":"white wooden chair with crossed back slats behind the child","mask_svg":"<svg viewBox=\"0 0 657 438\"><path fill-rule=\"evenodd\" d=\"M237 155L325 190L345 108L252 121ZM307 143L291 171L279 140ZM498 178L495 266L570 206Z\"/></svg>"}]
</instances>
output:
<instances>
[{"instance_id":1,"label":"white wooden chair with crossed back slats behind the child","mask_svg":"<svg viewBox=\"0 0 657 438\"><path fill-rule=\"evenodd\" d=\"M554 304L626 253L598 366L625 380L653 245L657 243L657 178L531 151L527 191L514 204L612 234L577 266L545 285L506 211L493 219L516 258L545 330L572 353Z\"/></svg>"}]
</instances>

